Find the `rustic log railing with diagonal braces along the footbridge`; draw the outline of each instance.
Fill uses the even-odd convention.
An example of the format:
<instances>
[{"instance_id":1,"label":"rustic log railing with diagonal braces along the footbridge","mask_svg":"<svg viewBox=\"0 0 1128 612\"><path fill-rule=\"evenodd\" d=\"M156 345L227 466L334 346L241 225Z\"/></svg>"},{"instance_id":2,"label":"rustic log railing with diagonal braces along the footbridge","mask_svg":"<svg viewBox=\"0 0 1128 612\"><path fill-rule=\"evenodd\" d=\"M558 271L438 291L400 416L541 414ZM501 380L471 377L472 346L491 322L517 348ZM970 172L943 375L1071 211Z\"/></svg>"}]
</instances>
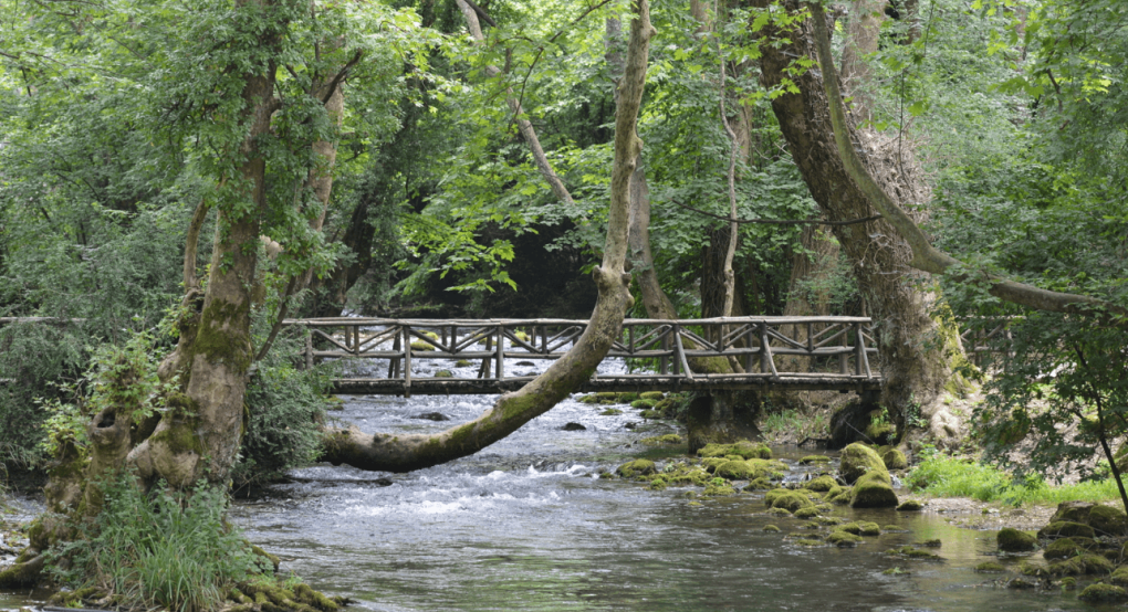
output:
<instances>
[{"instance_id":1,"label":"rustic log railing with diagonal braces along the footbridge","mask_svg":"<svg viewBox=\"0 0 1128 612\"><path fill-rule=\"evenodd\" d=\"M476 361L477 379L505 380L506 357L558 358L579 340L588 321L334 318L290 319L284 325L308 329L309 367L326 358L388 360L387 379L411 381L413 364L432 360ZM656 375L689 380L700 376L690 369L697 358L735 360L746 376L779 378L809 373L782 372L777 356L837 357L837 375L873 379L871 356L876 352L869 318L731 317L627 319L608 356L653 360Z\"/></svg>"}]
</instances>

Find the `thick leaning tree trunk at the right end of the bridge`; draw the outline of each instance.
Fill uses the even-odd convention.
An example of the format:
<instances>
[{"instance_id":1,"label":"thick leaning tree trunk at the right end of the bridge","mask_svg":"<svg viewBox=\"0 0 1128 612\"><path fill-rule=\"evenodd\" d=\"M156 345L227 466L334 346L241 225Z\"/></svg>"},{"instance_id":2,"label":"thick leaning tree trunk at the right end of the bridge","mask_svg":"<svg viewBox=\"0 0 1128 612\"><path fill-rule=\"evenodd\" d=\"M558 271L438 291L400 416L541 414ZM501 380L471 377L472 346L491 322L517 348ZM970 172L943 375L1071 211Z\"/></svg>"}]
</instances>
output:
<instances>
[{"instance_id":1,"label":"thick leaning tree trunk at the right end of the bridge","mask_svg":"<svg viewBox=\"0 0 1128 612\"><path fill-rule=\"evenodd\" d=\"M766 8L770 2L754 3ZM784 5L790 11L807 7L796 0ZM760 51L765 87L778 88L785 79L799 86L799 94L777 97L772 108L792 158L826 218L846 221L874 215L870 197L851 178L839 156L821 73L816 70L797 76L788 73L796 57L817 60L810 21L793 32L767 32ZM856 148L873 153L856 132L852 133ZM915 185L906 184L910 180L899 183L898 178L893 172L883 175L887 192L906 196L918 193ZM937 326L928 313L933 296L917 289L920 275L910 268L911 249L887 220L836 225L832 231L853 264L878 327L884 379L882 402L899 420L915 403L922 407L923 416L931 417L951 370L944 348L934 342ZM933 425L933 434L941 442L957 440L959 432L953 423Z\"/></svg>"}]
</instances>

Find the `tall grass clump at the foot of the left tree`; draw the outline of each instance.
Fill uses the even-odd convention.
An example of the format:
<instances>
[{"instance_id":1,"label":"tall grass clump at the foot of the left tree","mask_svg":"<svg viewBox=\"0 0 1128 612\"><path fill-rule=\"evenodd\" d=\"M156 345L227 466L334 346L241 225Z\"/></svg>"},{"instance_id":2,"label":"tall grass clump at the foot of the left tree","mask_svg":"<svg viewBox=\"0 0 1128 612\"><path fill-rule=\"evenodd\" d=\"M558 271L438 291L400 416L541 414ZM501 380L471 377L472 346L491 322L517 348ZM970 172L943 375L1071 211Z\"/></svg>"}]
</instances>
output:
<instances>
[{"instance_id":1,"label":"tall grass clump at the foot of the left tree","mask_svg":"<svg viewBox=\"0 0 1128 612\"><path fill-rule=\"evenodd\" d=\"M161 487L146 495L130 480L104 484L103 511L52 551L61 583L117 595L126 609L204 612L219 609L231 585L266 570L224 524L224 490L201 482L191 494Z\"/></svg>"}]
</instances>

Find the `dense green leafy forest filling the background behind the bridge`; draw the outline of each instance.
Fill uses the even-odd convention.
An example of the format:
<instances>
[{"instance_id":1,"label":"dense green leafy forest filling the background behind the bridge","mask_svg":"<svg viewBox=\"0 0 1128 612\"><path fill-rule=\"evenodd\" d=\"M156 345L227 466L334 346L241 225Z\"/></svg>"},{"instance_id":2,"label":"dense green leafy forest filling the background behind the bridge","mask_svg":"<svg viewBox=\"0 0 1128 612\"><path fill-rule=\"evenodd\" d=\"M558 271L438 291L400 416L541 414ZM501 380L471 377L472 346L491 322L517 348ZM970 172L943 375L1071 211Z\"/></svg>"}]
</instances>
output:
<instances>
[{"instance_id":1,"label":"dense green leafy forest filling the background behind the bridge","mask_svg":"<svg viewBox=\"0 0 1128 612\"><path fill-rule=\"evenodd\" d=\"M294 11L273 76L292 104L265 148L268 264L252 310L259 363L240 479L319 452L325 373L294 366L293 340L274 336L280 318L591 312L625 5L459 5ZM14 470L44 465L60 436L80 435L113 361L98 355L118 347L155 367L175 346L190 228L210 236L217 223L192 221L208 212L201 202L230 197L215 160L235 107L213 68L231 59L212 43L237 28L223 2L0 8L0 316L72 319L0 328L0 454ZM765 79L758 28L773 10L653 8L637 127L653 260L636 260L635 274L652 270L681 317L726 310L733 207L740 219L823 214L772 106L817 69L796 62L794 80ZM1013 442L1013 423L1023 435L1037 426L1052 442L1047 464L1091 454L1054 438L1055 425L1091 418L1102 400L1123 420L1122 334L1003 304L968 277L1128 303L1128 10L1114 0L858 0L830 17L857 131L891 154L890 171L924 186L902 204L962 261L948 277L898 282L942 295L928 304L934 319L1022 316L1011 375L990 381L973 428ZM310 92L324 104L303 103ZM739 224L731 312L869 313L860 261L817 228ZM199 267L211 256L201 241ZM641 298L629 314L646 313ZM1047 372L1074 370L1083 375L1048 388ZM1061 409L1026 413L1047 396Z\"/></svg>"}]
</instances>

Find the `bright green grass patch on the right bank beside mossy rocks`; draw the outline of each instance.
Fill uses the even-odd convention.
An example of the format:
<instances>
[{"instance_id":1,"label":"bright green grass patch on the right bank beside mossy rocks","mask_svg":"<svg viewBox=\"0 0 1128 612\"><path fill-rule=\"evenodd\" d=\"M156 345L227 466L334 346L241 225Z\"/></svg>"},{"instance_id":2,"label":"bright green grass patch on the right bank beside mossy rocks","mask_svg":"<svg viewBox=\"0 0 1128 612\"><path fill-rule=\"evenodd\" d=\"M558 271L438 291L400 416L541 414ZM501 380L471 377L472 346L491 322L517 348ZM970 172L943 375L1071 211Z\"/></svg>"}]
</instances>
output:
<instances>
[{"instance_id":1,"label":"bright green grass patch on the right bank beside mossy rocks","mask_svg":"<svg viewBox=\"0 0 1128 612\"><path fill-rule=\"evenodd\" d=\"M1111 478L1051 487L1041 479L1017 480L997 468L937 452L926 452L924 461L913 468L906 482L913 490L937 497L971 497L1014 506L1120 499L1116 480Z\"/></svg>"}]
</instances>

